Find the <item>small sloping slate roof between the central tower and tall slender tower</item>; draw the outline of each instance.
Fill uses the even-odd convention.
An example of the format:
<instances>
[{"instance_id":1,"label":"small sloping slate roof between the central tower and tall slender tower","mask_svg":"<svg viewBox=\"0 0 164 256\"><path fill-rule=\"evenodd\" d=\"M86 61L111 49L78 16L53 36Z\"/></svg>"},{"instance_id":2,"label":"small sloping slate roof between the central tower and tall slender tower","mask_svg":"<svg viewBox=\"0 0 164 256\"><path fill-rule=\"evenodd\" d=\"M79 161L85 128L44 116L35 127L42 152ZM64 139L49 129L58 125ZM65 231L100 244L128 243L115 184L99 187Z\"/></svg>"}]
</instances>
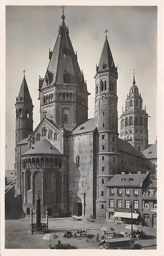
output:
<instances>
[{"instance_id":1,"label":"small sloping slate roof between the central tower and tall slender tower","mask_svg":"<svg viewBox=\"0 0 164 256\"><path fill-rule=\"evenodd\" d=\"M80 125L78 125L72 131L72 135L93 132L95 130L95 128L96 127L94 125L94 118L91 118L91 119L88 119L87 121L81 123Z\"/></svg>"}]
</instances>

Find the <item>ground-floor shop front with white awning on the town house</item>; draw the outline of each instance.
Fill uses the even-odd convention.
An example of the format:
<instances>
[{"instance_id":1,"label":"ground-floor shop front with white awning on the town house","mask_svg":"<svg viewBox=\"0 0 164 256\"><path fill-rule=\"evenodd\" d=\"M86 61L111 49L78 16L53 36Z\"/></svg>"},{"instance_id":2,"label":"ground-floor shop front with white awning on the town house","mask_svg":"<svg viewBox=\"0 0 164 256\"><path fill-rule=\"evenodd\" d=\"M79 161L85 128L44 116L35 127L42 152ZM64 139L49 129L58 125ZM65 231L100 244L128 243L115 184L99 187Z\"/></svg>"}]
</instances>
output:
<instances>
[{"instance_id":1,"label":"ground-floor shop front with white awning on the town house","mask_svg":"<svg viewBox=\"0 0 164 256\"><path fill-rule=\"evenodd\" d=\"M131 223L131 209L126 208L113 208L107 209L108 221L117 223ZM132 223L139 225L142 222L141 214L138 210L132 212Z\"/></svg>"}]
</instances>

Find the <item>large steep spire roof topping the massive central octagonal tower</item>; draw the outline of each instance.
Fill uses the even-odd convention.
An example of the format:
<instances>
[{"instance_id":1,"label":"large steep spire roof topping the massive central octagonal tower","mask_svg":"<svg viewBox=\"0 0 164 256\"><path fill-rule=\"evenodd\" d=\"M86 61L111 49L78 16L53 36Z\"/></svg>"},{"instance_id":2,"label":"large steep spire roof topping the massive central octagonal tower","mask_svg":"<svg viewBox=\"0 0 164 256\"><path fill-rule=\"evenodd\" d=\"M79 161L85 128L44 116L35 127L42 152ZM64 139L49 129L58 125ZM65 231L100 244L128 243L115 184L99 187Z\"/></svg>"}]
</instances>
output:
<instances>
[{"instance_id":1,"label":"large steep spire roof topping the massive central octagonal tower","mask_svg":"<svg viewBox=\"0 0 164 256\"><path fill-rule=\"evenodd\" d=\"M77 55L71 44L68 26L65 25L64 12L62 14L62 25L59 26L59 34L51 53L42 89L53 83L78 84L85 89L84 75L80 71Z\"/></svg>"}]
</instances>

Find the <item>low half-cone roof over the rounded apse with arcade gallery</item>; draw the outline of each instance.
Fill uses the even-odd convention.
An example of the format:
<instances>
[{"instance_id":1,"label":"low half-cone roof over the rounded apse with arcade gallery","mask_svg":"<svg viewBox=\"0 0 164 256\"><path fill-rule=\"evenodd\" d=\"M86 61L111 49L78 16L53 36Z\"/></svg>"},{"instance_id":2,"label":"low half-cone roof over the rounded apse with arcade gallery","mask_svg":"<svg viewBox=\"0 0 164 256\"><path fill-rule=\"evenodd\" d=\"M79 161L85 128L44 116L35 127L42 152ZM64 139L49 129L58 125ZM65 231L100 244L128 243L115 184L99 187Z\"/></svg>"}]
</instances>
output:
<instances>
[{"instance_id":1,"label":"low half-cone roof over the rounded apse with arcade gallery","mask_svg":"<svg viewBox=\"0 0 164 256\"><path fill-rule=\"evenodd\" d=\"M47 154L47 155L63 155L53 144L51 144L46 138L43 138L37 143L33 144L30 150L22 154L25 155L37 155L37 154Z\"/></svg>"}]
</instances>

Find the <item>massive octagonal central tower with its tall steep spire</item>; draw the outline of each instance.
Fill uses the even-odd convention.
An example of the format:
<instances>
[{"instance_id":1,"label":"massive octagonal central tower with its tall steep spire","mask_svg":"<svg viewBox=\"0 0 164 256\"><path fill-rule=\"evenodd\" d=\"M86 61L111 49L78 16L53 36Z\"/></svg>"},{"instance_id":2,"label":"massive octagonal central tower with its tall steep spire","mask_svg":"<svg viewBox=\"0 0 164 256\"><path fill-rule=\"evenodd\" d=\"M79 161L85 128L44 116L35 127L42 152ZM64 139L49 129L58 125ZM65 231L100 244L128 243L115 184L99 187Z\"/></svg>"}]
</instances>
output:
<instances>
[{"instance_id":1,"label":"massive octagonal central tower with its tall steep spire","mask_svg":"<svg viewBox=\"0 0 164 256\"><path fill-rule=\"evenodd\" d=\"M69 37L65 15L44 78L39 78L40 119L46 117L67 130L88 119L88 91Z\"/></svg>"}]
</instances>

